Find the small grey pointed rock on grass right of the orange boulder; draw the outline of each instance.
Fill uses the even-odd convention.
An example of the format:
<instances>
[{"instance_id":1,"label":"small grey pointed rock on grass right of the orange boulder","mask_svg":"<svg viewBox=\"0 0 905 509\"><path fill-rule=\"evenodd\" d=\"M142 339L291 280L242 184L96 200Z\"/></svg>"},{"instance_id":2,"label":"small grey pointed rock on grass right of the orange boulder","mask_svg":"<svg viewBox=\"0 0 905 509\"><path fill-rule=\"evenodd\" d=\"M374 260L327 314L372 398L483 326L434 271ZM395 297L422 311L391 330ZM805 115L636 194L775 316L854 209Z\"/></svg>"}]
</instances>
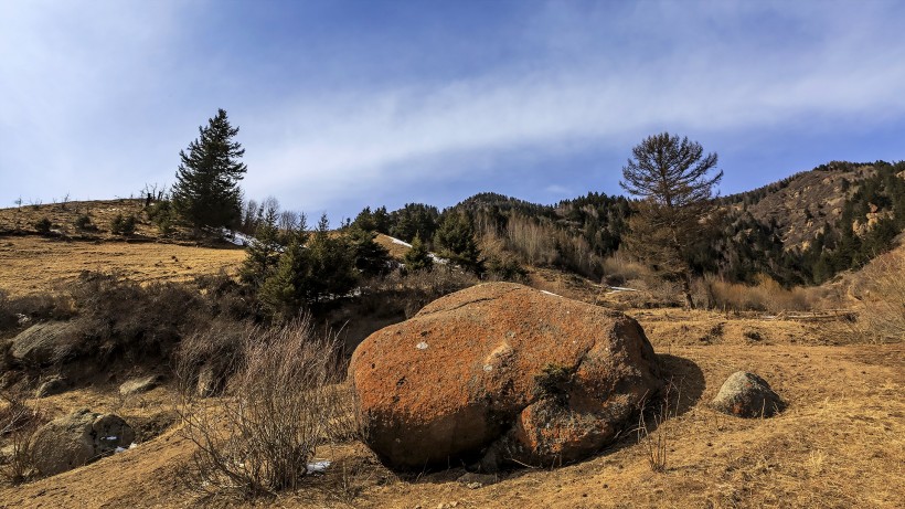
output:
<instances>
[{"instance_id":1,"label":"small grey pointed rock on grass right of the orange boulder","mask_svg":"<svg viewBox=\"0 0 905 509\"><path fill-rule=\"evenodd\" d=\"M736 371L720 388L711 406L738 417L769 417L786 407L786 403L760 377Z\"/></svg>"}]
</instances>

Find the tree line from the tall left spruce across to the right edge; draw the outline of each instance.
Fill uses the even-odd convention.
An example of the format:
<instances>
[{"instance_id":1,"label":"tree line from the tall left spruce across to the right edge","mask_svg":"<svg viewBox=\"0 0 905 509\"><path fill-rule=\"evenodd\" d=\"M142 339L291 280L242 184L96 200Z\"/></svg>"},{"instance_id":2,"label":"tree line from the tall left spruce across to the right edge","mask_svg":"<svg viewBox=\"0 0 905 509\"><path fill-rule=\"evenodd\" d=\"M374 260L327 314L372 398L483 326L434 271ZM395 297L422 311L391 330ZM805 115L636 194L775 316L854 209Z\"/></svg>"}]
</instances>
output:
<instances>
[{"instance_id":1,"label":"tree line from the tall left spruce across to the right edge","mask_svg":"<svg viewBox=\"0 0 905 509\"><path fill-rule=\"evenodd\" d=\"M637 145L622 168L620 184L630 198L589 192L540 205L481 193L443 211L424 203L395 211L365 206L339 231L330 231L326 216L309 230L304 214L280 211L274 199L243 200L238 182L247 168L237 134L223 109L200 127L199 138L180 151L170 200L156 203L149 216L161 230L180 224L193 234L227 227L253 235L242 280L272 315L288 316L347 295L362 277L398 268L374 242L377 233L412 244L403 261L408 271L429 271L437 259L433 252L459 269L514 280L524 277L524 266L605 277L605 258L625 252L680 283L692 306L695 277L716 274L753 283L766 275L786 286L819 284L888 250L905 227L905 163L879 161L873 176L858 181L834 224L827 224L808 248L788 250L775 221L727 205L755 203L795 176L721 199L717 155L662 132ZM816 170L853 166L833 162ZM870 225L867 214L874 218Z\"/></svg>"}]
</instances>

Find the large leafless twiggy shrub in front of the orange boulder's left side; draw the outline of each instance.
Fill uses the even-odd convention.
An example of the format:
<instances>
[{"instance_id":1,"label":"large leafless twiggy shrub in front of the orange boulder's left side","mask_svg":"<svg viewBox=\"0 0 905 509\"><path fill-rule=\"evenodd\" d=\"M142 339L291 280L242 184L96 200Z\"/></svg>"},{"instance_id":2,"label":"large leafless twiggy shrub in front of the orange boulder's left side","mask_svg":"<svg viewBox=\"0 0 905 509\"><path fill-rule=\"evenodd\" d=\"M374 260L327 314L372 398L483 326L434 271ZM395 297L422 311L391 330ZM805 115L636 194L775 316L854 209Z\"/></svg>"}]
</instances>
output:
<instances>
[{"instance_id":1,"label":"large leafless twiggy shrub in front of the orange boulder's left side","mask_svg":"<svg viewBox=\"0 0 905 509\"><path fill-rule=\"evenodd\" d=\"M202 486L246 497L296 489L318 447L354 436L354 402L338 384L338 359L336 336L317 337L302 317L246 333L219 401L183 391L180 414L198 446L194 474Z\"/></svg>"}]
</instances>

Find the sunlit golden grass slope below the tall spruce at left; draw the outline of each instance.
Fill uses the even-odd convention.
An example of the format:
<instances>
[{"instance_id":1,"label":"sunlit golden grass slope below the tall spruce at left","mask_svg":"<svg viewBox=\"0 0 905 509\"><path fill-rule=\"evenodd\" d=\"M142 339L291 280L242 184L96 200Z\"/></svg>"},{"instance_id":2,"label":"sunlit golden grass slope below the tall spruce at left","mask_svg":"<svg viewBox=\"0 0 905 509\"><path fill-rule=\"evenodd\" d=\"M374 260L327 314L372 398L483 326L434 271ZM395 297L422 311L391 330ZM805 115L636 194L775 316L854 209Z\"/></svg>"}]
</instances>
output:
<instances>
[{"instance_id":1,"label":"sunlit golden grass slope below the tall spruce at left","mask_svg":"<svg viewBox=\"0 0 905 509\"><path fill-rule=\"evenodd\" d=\"M0 288L12 297L53 291L82 271L117 273L139 282L188 280L221 269L235 273L244 258L241 247L7 236L0 237Z\"/></svg>"}]
</instances>

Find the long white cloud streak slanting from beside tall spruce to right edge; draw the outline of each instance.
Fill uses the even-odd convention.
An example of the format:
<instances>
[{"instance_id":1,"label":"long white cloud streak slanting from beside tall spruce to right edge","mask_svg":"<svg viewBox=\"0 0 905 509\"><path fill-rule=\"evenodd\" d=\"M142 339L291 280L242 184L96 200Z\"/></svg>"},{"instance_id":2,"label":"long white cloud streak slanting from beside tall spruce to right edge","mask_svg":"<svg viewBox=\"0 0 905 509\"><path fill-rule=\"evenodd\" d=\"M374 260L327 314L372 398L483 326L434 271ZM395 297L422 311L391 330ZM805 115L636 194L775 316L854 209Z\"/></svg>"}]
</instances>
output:
<instances>
[{"instance_id":1,"label":"long white cloud streak slanting from beside tall spruce to right edge","mask_svg":"<svg viewBox=\"0 0 905 509\"><path fill-rule=\"evenodd\" d=\"M869 33L858 32L871 25L872 33L895 33L893 20L883 19L882 12L845 13L844 20L837 20L840 14L832 9L801 12L791 22L813 24L806 32L817 39L782 47L767 36L769 50L749 40L738 47L721 46L705 30L706 20L684 15L660 20L689 25L667 55L577 54L578 47L563 46L556 34L587 34L593 26L573 20L579 26L561 25L550 35L557 52L568 53L567 65L507 67L441 87L415 83L289 98L291 106L265 117L265 124L291 125L292 134L268 134L256 140L260 145L249 156L263 169L257 184L273 189L304 182L297 188L302 201L322 203L355 185L364 195L383 182L425 181L426 170L433 179L461 178L469 171L490 177L486 169L464 163L475 152L530 148L547 157L590 146L628 152L629 144L660 129L820 129L822 123L905 114L905 66L894 64L905 61L905 42L877 44ZM627 20L632 22L641 20ZM732 20L730 28L738 22ZM854 26L856 33L844 26ZM659 28L669 30L647 30Z\"/></svg>"}]
</instances>

